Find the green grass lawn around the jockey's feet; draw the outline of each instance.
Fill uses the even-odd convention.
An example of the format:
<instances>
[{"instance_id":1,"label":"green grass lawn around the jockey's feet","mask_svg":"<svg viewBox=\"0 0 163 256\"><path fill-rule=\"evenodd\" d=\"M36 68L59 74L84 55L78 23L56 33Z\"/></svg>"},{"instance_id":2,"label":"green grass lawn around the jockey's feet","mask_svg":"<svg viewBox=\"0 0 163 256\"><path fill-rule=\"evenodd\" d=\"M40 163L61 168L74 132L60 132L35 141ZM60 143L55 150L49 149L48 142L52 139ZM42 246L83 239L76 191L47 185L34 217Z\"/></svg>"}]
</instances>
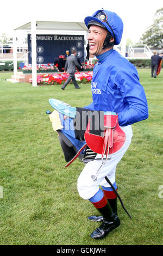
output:
<instances>
[{"instance_id":1,"label":"green grass lawn around the jockey's feet","mask_svg":"<svg viewBox=\"0 0 163 256\"><path fill-rule=\"evenodd\" d=\"M155 79L139 69L149 118L133 125L133 141L117 166L116 183L132 220L118 202L121 225L102 240L90 234L98 214L79 197L78 159L65 168L57 133L46 115L55 98L82 107L92 101L91 84L32 87L5 81L0 73L0 244L1 245L162 245L163 70ZM3 190L3 195L2 195Z\"/></svg>"}]
</instances>

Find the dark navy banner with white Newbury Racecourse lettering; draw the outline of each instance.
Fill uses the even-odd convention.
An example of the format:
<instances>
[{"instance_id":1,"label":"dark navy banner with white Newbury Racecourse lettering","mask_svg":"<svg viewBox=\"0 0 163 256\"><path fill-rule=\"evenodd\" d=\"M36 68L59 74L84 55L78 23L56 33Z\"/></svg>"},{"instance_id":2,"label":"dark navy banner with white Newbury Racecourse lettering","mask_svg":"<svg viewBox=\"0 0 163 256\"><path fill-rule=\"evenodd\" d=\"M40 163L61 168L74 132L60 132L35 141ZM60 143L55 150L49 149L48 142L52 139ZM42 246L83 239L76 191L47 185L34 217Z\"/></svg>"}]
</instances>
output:
<instances>
[{"instance_id":1,"label":"dark navy banner with white Newbury Racecourse lettering","mask_svg":"<svg viewBox=\"0 0 163 256\"><path fill-rule=\"evenodd\" d=\"M84 35L36 35L37 64L54 63L66 51L77 50L77 58L84 62ZM32 64L31 35L28 34L28 60Z\"/></svg>"}]
</instances>

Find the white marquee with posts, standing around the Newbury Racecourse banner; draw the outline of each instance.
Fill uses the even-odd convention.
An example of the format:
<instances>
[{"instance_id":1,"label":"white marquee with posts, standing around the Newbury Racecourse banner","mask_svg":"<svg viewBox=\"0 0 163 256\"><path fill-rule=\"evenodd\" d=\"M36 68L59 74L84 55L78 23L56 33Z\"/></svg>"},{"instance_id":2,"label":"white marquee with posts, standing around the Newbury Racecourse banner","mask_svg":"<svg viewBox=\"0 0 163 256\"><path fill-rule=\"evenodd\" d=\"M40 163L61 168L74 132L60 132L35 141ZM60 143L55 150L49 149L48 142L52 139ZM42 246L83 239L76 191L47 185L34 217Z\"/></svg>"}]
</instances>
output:
<instances>
[{"instance_id":1,"label":"white marquee with posts, standing around the Newbury Racecourse banner","mask_svg":"<svg viewBox=\"0 0 163 256\"><path fill-rule=\"evenodd\" d=\"M36 34L74 34L87 35L87 28L84 22L62 22L62 21L36 21L32 20L25 25L14 29L13 34L13 55L14 55L14 77L17 74L17 46L16 32L18 30L27 31L32 35L32 86L37 86L37 64L36 64ZM126 40L123 39L121 54L125 57ZM123 49L124 52L123 52Z\"/></svg>"}]
</instances>

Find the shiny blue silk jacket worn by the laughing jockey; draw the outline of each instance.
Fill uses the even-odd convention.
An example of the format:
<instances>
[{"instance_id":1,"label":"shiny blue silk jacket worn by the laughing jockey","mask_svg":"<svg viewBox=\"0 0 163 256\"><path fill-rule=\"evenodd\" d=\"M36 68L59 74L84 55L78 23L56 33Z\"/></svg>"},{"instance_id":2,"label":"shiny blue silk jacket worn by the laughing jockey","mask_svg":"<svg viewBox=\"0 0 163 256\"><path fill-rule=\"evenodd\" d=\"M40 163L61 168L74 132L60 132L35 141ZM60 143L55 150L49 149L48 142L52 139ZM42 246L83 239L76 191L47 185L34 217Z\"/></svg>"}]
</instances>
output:
<instances>
[{"instance_id":1,"label":"shiny blue silk jacket worn by the laughing jockey","mask_svg":"<svg viewBox=\"0 0 163 256\"><path fill-rule=\"evenodd\" d=\"M112 49L96 57L91 83L93 102L85 108L116 112L120 126L147 119L145 90L135 66Z\"/></svg>"}]
</instances>

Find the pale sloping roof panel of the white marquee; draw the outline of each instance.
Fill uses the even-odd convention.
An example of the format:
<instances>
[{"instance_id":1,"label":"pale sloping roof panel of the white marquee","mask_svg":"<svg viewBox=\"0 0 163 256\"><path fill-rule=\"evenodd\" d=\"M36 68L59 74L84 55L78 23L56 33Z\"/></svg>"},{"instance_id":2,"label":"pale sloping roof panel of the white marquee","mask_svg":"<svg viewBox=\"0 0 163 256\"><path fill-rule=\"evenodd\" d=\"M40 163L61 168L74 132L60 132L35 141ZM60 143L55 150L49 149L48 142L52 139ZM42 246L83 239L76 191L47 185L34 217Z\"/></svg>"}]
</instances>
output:
<instances>
[{"instance_id":1,"label":"pale sloping roof panel of the white marquee","mask_svg":"<svg viewBox=\"0 0 163 256\"><path fill-rule=\"evenodd\" d=\"M29 30L31 22L15 28ZM36 21L36 30L53 30L53 31L87 31L84 22L65 22L65 21Z\"/></svg>"}]
</instances>

